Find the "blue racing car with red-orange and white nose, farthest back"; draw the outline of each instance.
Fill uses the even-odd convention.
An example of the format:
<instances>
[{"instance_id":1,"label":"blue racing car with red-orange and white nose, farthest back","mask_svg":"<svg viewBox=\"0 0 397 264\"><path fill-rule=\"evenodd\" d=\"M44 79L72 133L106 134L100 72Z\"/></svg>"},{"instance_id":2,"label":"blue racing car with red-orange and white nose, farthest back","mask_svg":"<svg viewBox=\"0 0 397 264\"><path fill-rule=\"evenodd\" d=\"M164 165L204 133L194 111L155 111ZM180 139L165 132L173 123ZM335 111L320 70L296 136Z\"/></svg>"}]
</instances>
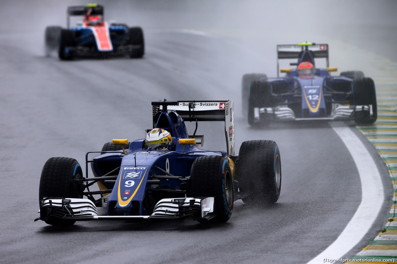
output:
<instances>
[{"instance_id":1,"label":"blue racing car with red-orange and white nose, farthest back","mask_svg":"<svg viewBox=\"0 0 397 264\"><path fill-rule=\"evenodd\" d=\"M143 31L125 24L110 25L103 20L104 8L97 4L69 6L67 29L49 26L45 30L46 55L58 51L59 58L128 56L141 58L145 54ZM77 26L71 27L71 19Z\"/></svg>"}]
</instances>

